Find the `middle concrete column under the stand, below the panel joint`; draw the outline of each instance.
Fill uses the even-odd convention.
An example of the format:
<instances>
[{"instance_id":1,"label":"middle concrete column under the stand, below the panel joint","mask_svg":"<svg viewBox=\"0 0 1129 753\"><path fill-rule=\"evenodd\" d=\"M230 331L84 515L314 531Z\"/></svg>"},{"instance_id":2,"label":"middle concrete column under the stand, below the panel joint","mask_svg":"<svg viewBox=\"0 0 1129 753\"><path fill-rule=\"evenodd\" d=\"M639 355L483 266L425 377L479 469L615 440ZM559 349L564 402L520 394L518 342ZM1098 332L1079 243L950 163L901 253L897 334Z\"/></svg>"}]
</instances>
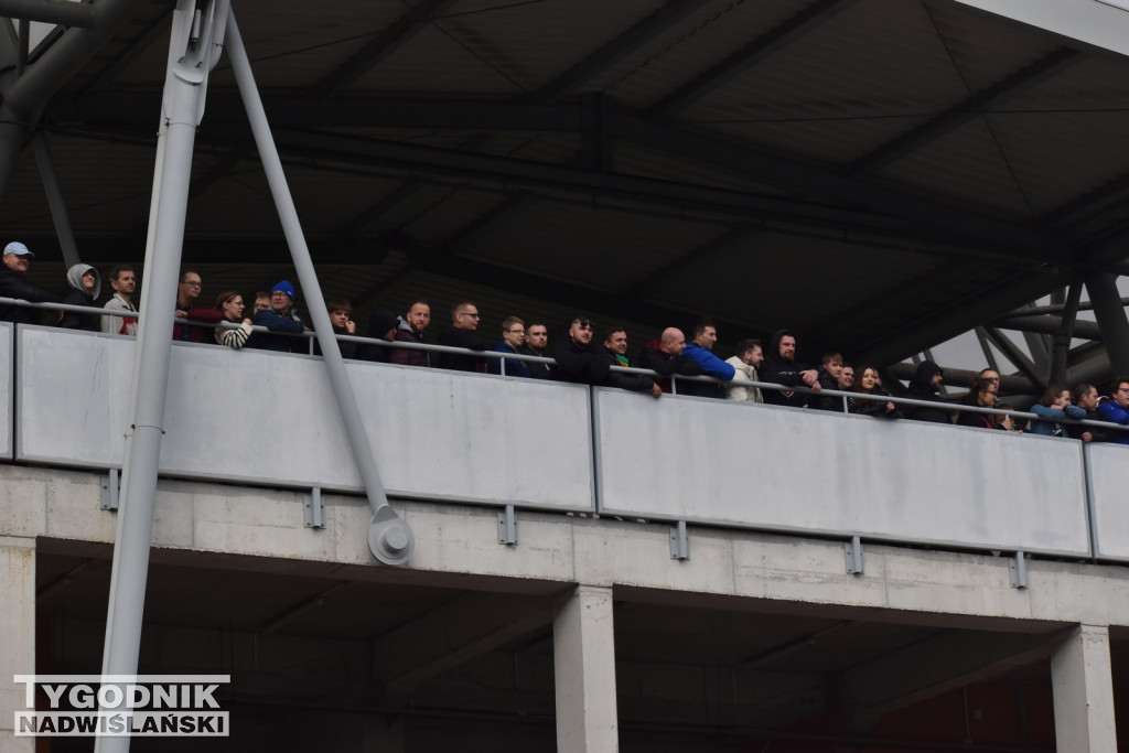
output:
<instances>
[{"instance_id":1,"label":"middle concrete column under the stand, below the panel joint","mask_svg":"<svg viewBox=\"0 0 1129 753\"><path fill-rule=\"evenodd\" d=\"M577 586L553 619L558 753L619 750L612 589Z\"/></svg>"}]
</instances>

